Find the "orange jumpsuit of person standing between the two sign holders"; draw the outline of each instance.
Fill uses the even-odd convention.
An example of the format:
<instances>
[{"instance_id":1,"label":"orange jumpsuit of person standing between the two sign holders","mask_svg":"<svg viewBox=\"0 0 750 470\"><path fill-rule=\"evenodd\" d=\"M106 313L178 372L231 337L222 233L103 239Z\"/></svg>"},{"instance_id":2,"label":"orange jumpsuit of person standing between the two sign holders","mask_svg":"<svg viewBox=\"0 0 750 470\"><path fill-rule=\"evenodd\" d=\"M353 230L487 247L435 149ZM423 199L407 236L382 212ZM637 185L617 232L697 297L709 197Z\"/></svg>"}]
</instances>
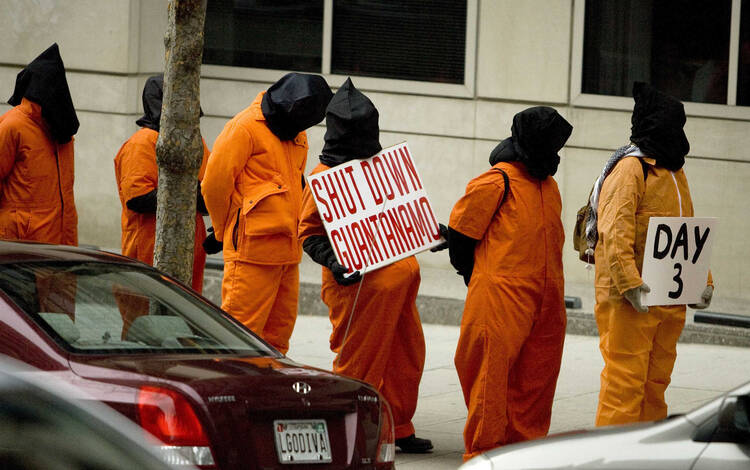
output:
<instances>
[{"instance_id":1,"label":"orange jumpsuit of person standing between the two sign holders","mask_svg":"<svg viewBox=\"0 0 750 470\"><path fill-rule=\"evenodd\" d=\"M547 434L565 338L562 204L551 177L501 162L469 182L454 230L479 240L455 365L468 417L469 458ZM498 210L498 206L500 206Z\"/></svg>"}]
</instances>

